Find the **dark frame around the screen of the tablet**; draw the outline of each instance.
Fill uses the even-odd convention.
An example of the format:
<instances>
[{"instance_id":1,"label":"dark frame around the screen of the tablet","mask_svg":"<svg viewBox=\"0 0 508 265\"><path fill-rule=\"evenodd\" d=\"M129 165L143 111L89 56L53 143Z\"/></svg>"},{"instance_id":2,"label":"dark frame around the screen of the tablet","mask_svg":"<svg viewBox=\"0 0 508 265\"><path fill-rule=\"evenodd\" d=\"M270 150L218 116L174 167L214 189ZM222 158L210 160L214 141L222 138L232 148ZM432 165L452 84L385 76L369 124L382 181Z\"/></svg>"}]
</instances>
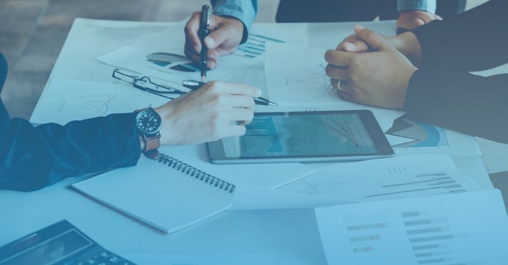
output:
<instances>
[{"instance_id":1,"label":"dark frame around the screen of the tablet","mask_svg":"<svg viewBox=\"0 0 508 265\"><path fill-rule=\"evenodd\" d=\"M337 158L355 158L355 160L362 160L362 158L369 159L372 157L390 157L395 154L392 146L388 142L377 120L374 117L372 111L367 109L360 110L327 110L327 111L291 111L291 112L257 112L254 113L255 117L258 116L292 116L292 115L335 115L335 114L351 114L356 113L360 117L367 133L369 134L374 146L376 147L377 153L359 153L359 154L326 154L326 155L294 155L294 156L257 156L257 157L226 157L224 144L222 139L209 142L208 152L210 154L210 160L212 162L225 161L234 163L235 161L256 161L256 160L285 160L288 159L294 161L308 161L309 159L314 161L330 161L330 159ZM356 159L357 158L357 159Z\"/></svg>"}]
</instances>

